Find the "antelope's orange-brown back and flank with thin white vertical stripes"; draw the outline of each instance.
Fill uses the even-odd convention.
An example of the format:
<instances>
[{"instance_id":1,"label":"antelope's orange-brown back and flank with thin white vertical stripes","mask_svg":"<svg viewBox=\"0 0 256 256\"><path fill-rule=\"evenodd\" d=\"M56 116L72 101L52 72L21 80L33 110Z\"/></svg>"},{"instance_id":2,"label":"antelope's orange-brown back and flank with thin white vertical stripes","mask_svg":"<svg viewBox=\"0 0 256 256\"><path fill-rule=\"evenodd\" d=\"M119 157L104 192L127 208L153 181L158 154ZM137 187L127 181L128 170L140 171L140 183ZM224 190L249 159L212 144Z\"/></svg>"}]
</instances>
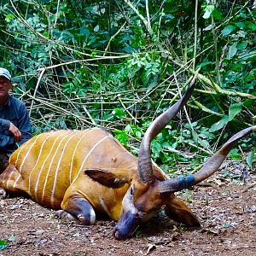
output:
<instances>
[{"instance_id":1,"label":"antelope's orange-brown back and flank with thin white vertical stripes","mask_svg":"<svg viewBox=\"0 0 256 256\"><path fill-rule=\"evenodd\" d=\"M34 201L58 209L67 188L84 178L86 168L115 170L126 165L129 169L135 162L135 157L102 129L50 131L33 137L11 155L9 167L15 168L6 173L2 185L10 189L11 184Z\"/></svg>"}]
</instances>

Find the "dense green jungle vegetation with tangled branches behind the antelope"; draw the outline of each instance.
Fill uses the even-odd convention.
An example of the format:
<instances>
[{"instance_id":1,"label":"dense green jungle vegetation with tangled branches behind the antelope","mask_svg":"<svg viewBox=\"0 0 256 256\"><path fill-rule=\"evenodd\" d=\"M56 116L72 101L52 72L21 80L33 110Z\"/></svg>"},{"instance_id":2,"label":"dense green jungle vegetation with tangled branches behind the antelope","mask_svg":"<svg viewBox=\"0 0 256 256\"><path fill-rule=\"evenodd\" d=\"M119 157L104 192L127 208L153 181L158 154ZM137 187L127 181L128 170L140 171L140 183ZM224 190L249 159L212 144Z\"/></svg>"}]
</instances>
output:
<instances>
[{"instance_id":1,"label":"dense green jungle vegetation with tangled branches behind the antelope","mask_svg":"<svg viewBox=\"0 0 256 256\"><path fill-rule=\"evenodd\" d=\"M168 172L195 168L255 125L255 14L238 0L2 0L0 66L34 134L104 126L133 154L200 68L189 104L152 143ZM251 169L254 156L255 135L230 153Z\"/></svg>"}]
</instances>

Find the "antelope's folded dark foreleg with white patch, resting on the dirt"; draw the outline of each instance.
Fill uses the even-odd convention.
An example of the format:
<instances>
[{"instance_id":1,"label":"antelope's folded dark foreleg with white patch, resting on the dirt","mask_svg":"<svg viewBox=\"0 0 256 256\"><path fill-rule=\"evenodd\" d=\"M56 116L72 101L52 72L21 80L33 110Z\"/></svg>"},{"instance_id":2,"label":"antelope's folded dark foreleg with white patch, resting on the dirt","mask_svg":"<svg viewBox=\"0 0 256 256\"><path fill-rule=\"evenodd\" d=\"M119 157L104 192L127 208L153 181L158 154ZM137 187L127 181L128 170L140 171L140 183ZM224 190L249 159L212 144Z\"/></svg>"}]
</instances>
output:
<instances>
[{"instance_id":1,"label":"antelope's folded dark foreleg with white patch, resting on the dirt","mask_svg":"<svg viewBox=\"0 0 256 256\"><path fill-rule=\"evenodd\" d=\"M65 200L65 198L64 198ZM62 201L62 210L55 212L59 218L70 218L79 222L79 224L94 224L96 221L96 213L91 207L90 202L83 197L74 195Z\"/></svg>"}]
</instances>

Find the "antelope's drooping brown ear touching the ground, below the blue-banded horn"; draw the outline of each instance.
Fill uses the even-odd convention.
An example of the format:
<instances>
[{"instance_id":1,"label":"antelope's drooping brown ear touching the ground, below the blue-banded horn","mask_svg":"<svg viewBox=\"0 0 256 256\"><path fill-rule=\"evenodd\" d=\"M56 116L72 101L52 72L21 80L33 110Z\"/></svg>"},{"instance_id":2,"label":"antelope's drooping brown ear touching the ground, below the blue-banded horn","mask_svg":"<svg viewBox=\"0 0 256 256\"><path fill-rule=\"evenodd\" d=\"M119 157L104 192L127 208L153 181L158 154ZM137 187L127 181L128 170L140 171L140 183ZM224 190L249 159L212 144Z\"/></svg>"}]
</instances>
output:
<instances>
[{"instance_id":1,"label":"antelope's drooping brown ear touching the ground, below the blue-banded horn","mask_svg":"<svg viewBox=\"0 0 256 256\"><path fill-rule=\"evenodd\" d=\"M175 195L165 208L166 215L178 223L185 224L189 227L200 227L201 224L198 218L192 213L191 209L186 204L179 200Z\"/></svg>"}]
</instances>

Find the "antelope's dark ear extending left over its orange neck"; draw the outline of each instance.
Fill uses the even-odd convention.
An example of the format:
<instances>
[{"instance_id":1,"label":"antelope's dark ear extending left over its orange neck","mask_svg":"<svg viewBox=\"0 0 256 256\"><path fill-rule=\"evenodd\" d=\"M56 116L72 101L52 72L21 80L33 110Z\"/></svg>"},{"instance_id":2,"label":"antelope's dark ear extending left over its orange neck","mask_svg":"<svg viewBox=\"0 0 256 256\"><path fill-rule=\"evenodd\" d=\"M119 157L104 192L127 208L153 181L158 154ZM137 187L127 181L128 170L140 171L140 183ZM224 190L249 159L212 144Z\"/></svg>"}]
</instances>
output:
<instances>
[{"instance_id":1,"label":"antelope's dark ear extending left over its orange neck","mask_svg":"<svg viewBox=\"0 0 256 256\"><path fill-rule=\"evenodd\" d=\"M90 168L84 171L84 174L88 175L90 178L95 180L97 183L101 183L103 186L118 189L125 185L125 183L130 183L128 177L117 176L108 170Z\"/></svg>"}]
</instances>

